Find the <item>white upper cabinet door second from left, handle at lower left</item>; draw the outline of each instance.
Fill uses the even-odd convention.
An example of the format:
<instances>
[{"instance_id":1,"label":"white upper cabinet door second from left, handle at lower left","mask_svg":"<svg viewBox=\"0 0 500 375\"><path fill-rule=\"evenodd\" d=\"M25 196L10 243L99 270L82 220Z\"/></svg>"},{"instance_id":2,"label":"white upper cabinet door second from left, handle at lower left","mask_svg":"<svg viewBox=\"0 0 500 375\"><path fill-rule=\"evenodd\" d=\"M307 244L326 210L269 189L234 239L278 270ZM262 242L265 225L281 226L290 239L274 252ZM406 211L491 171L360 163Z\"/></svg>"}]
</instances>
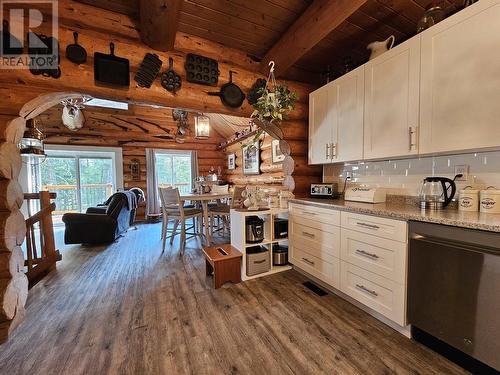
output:
<instances>
[{"instance_id":1,"label":"white upper cabinet door second from left, handle at lower left","mask_svg":"<svg viewBox=\"0 0 500 375\"><path fill-rule=\"evenodd\" d=\"M332 161L363 159L363 107L365 68L361 66L333 82L336 102L333 103L334 128Z\"/></svg>"}]
</instances>

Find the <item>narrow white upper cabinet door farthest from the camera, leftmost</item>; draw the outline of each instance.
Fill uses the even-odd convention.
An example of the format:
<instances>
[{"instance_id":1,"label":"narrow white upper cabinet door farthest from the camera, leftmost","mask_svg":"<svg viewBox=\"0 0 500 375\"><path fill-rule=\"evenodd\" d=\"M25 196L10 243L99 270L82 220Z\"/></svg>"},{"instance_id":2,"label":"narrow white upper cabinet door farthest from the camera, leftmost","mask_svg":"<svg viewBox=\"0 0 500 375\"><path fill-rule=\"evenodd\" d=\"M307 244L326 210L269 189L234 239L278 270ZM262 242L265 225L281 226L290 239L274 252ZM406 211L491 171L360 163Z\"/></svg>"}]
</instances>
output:
<instances>
[{"instance_id":1,"label":"narrow white upper cabinet door farthest from the camera, leftmost","mask_svg":"<svg viewBox=\"0 0 500 375\"><path fill-rule=\"evenodd\" d=\"M329 105L330 85L309 95L309 164L330 163L332 139L332 108Z\"/></svg>"}]
</instances>

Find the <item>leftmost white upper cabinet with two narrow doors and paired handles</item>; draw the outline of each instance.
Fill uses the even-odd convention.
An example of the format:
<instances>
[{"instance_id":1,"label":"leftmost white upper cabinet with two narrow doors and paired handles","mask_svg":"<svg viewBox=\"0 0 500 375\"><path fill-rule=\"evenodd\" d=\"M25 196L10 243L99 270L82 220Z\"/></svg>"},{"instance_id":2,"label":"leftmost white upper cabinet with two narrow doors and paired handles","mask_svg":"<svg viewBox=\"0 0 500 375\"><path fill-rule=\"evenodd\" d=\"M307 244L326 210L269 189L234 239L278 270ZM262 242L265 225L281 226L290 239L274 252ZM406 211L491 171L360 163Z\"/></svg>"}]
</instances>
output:
<instances>
[{"instance_id":1,"label":"leftmost white upper cabinet with two narrow doors and paired handles","mask_svg":"<svg viewBox=\"0 0 500 375\"><path fill-rule=\"evenodd\" d=\"M311 94L309 164L363 158L363 106L364 66Z\"/></svg>"}]
</instances>

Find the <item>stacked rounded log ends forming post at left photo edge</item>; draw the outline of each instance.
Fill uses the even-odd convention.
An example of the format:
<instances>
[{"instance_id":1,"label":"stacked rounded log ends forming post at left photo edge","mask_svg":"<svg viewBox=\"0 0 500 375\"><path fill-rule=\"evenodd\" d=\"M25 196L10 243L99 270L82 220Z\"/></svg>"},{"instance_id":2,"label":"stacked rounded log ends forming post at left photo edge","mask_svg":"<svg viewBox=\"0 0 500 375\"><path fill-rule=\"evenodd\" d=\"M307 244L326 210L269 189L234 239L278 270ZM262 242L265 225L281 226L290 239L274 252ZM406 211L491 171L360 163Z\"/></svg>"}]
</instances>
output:
<instances>
[{"instance_id":1,"label":"stacked rounded log ends forming post at left photo edge","mask_svg":"<svg viewBox=\"0 0 500 375\"><path fill-rule=\"evenodd\" d=\"M22 321L28 297L20 248L26 224L19 210L22 190L17 182L21 171L17 143L24 129L24 118L0 117L0 343Z\"/></svg>"}]
</instances>

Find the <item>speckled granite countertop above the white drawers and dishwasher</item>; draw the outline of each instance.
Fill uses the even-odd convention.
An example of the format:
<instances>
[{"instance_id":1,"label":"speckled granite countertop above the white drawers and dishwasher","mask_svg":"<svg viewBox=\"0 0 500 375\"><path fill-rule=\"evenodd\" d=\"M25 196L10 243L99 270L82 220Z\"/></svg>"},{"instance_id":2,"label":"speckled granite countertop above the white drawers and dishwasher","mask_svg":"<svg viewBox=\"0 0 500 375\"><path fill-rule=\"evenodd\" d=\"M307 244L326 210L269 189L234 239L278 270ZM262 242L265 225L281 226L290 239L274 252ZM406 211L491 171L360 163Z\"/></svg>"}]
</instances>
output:
<instances>
[{"instance_id":1,"label":"speckled granite countertop above the white drawers and dishwasher","mask_svg":"<svg viewBox=\"0 0 500 375\"><path fill-rule=\"evenodd\" d=\"M440 211L421 210L417 205L408 204L404 200L372 204L349 202L341 199L297 198L291 199L290 202L397 220L415 220L461 228L500 232L500 215L464 212L454 208L447 208Z\"/></svg>"}]
</instances>

